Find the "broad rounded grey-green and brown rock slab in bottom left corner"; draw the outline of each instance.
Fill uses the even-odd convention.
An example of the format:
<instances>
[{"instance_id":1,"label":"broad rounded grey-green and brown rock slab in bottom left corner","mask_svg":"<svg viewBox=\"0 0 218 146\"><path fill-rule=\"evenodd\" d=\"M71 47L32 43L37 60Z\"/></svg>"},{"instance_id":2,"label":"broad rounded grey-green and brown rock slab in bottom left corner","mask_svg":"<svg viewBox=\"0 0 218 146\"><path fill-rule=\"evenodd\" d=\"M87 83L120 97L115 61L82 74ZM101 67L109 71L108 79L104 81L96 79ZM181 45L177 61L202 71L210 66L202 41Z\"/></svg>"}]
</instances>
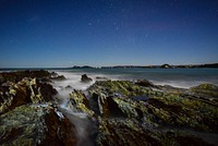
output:
<instances>
[{"instance_id":1,"label":"broad rounded grey-green and brown rock slab in bottom left corner","mask_svg":"<svg viewBox=\"0 0 218 146\"><path fill-rule=\"evenodd\" d=\"M0 145L76 145L74 125L49 105L25 105L0 115Z\"/></svg>"}]
</instances>

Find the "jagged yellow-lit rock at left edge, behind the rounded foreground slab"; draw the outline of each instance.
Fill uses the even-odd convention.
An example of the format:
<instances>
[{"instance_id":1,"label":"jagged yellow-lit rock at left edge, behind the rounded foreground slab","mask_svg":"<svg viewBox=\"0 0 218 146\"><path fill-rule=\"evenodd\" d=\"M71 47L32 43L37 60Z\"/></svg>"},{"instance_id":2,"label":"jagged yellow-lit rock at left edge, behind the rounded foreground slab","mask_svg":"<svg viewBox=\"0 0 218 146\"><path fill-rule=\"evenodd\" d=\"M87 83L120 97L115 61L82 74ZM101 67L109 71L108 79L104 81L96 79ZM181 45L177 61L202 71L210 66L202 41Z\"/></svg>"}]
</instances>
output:
<instances>
[{"instance_id":1,"label":"jagged yellow-lit rock at left edge, behind the rounded foreground slab","mask_svg":"<svg viewBox=\"0 0 218 146\"><path fill-rule=\"evenodd\" d=\"M0 87L0 114L28 102L39 104L52 100L57 90L47 83L36 78L23 78L17 83L8 83Z\"/></svg>"}]
</instances>

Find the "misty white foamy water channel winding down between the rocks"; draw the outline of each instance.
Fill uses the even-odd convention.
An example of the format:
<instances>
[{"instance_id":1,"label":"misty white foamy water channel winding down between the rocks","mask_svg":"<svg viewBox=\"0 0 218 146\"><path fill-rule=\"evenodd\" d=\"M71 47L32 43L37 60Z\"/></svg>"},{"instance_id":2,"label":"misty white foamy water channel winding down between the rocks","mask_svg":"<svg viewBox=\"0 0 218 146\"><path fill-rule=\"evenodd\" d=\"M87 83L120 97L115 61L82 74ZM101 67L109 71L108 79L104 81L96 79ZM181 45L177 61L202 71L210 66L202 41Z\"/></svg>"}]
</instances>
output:
<instances>
[{"instance_id":1,"label":"misty white foamy water channel winding down between the rocks","mask_svg":"<svg viewBox=\"0 0 218 146\"><path fill-rule=\"evenodd\" d=\"M68 119L75 126L75 134L77 137L77 146L94 146L95 142L93 141L93 133L97 127L95 127L95 121L90 121L87 117L87 113L73 110L68 107L70 93L73 89L86 89L88 86L95 83L97 75L89 75L93 78L89 83L82 83L81 75L83 73L69 73L69 72L57 72L59 75L64 75L66 80L56 81L53 87L58 90L56 96L59 99L59 109L63 112ZM72 88L65 88L71 86Z\"/></svg>"}]
</instances>

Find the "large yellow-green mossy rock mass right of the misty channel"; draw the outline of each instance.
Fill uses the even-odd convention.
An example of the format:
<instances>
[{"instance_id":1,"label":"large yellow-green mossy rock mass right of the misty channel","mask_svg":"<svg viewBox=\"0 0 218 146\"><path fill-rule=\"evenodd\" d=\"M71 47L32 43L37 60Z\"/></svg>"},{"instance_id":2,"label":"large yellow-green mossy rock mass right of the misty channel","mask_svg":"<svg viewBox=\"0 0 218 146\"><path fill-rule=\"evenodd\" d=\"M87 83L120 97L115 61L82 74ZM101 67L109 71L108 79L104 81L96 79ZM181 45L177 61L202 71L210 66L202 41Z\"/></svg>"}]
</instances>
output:
<instances>
[{"instance_id":1,"label":"large yellow-green mossy rock mass right of the misty channel","mask_svg":"<svg viewBox=\"0 0 218 146\"><path fill-rule=\"evenodd\" d=\"M181 130L217 132L215 104L187 89L173 87L168 90L166 86L141 83L101 81L87 89L88 95L74 90L73 97L80 98L75 98L75 105L83 105L82 111L92 111L98 121L97 145L180 146L183 145L181 139L192 139L191 145L209 145L203 141L204 136L195 135L196 132L189 135ZM179 132L171 132L171 126Z\"/></svg>"}]
</instances>

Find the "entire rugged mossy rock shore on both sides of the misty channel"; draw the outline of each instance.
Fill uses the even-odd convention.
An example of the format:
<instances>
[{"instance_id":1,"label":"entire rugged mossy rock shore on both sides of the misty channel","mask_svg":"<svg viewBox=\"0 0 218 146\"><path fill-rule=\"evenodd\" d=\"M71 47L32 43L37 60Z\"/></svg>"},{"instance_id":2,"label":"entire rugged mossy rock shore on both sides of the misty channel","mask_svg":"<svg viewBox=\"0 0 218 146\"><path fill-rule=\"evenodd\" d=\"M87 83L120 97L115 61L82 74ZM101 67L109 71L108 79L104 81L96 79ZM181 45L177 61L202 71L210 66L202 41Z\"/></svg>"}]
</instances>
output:
<instances>
[{"instance_id":1,"label":"entire rugged mossy rock shore on both sides of the misty channel","mask_svg":"<svg viewBox=\"0 0 218 146\"><path fill-rule=\"evenodd\" d=\"M0 145L80 145L75 123L57 105L52 82L61 80L66 78L44 70L0 73ZM90 80L82 76L84 84ZM183 89L106 78L69 90L68 109L96 123L94 145L218 144L215 85Z\"/></svg>"}]
</instances>

